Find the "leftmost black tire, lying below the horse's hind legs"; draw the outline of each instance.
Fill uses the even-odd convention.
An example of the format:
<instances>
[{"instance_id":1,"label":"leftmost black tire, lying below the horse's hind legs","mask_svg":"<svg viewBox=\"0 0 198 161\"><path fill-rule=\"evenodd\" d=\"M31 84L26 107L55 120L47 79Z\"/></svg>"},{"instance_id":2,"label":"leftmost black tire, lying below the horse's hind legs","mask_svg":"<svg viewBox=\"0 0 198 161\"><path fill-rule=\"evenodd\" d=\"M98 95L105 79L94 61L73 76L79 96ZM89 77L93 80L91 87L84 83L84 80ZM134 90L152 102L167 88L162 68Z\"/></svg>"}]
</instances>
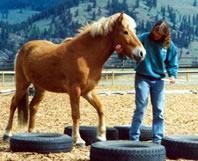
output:
<instances>
[{"instance_id":1,"label":"leftmost black tire, lying below the horse's hind legs","mask_svg":"<svg viewBox=\"0 0 198 161\"><path fill-rule=\"evenodd\" d=\"M13 152L59 153L69 152L73 139L57 133L21 133L11 137L10 149Z\"/></svg>"}]
</instances>

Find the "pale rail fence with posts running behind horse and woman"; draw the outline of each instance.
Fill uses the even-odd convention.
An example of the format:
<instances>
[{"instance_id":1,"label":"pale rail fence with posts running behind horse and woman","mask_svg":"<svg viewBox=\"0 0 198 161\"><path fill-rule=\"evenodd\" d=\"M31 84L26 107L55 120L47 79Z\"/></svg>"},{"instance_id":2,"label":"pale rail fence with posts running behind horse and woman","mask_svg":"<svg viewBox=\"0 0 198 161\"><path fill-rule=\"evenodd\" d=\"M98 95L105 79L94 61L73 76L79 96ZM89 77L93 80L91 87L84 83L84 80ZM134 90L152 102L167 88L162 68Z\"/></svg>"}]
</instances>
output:
<instances>
[{"instance_id":1,"label":"pale rail fence with posts running behind horse and woman","mask_svg":"<svg viewBox=\"0 0 198 161\"><path fill-rule=\"evenodd\" d=\"M103 71L100 85L116 85L119 80L122 84L131 84L134 80L135 71ZM178 79L186 82L194 82L198 84L198 70L186 70L178 72ZM14 85L14 71L0 71L0 86Z\"/></svg>"}]
</instances>

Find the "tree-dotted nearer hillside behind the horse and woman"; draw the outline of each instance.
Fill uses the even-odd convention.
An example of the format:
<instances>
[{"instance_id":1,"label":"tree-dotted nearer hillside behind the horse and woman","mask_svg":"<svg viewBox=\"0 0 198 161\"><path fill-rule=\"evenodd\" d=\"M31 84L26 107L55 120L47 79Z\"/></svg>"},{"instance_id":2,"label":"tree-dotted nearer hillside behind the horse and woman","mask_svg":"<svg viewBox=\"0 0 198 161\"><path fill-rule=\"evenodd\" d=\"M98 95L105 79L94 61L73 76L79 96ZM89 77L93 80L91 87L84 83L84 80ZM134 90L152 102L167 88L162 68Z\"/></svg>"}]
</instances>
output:
<instances>
[{"instance_id":1,"label":"tree-dotted nearer hillside behind the horse and woman","mask_svg":"<svg viewBox=\"0 0 198 161\"><path fill-rule=\"evenodd\" d=\"M198 64L198 5L196 3L197 0L114 0L113 3L111 0L63 0L62 4L34 14L20 25L10 27L9 24L0 24L0 27L7 25L9 28L9 33L6 35L8 45L11 44L11 34L20 38L20 41L12 39L15 45L12 44L12 50L9 51L14 55L19 46L29 40L48 39L60 43L65 37L74 36L77 29L86 22L98 20L103 16L108 17L123 10L136 20L137 33L150 31L156 20L168 21L172 39L178 48L180 64L193 66ZM23 15L26 15L25 12ZM18 21L21 19L22 16ZM5 46L6 44L1 44L0 39L2 52L10 49ZM14 56L11 56L9 59L13 58ZM115 60L112 61L115 62ZM122 66L122 61L116 62L118 64L114 63L115 66ZM131 63L125 64L130 66Z\"/></svg>"}]
</instances>

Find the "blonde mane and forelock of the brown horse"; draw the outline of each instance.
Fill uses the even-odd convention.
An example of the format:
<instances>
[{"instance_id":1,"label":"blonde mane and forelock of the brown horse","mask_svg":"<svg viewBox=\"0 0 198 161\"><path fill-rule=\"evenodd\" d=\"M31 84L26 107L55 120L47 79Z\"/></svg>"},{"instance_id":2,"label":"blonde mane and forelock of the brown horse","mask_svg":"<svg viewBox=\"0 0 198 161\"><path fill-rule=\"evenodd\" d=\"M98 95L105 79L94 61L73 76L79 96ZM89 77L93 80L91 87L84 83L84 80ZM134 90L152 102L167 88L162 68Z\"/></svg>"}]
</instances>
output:
<instances>
[{"instance_id":1,"label":"blonde mane and forelock of the brown horse","mask_svg":"<svg viewBox=\"0 0 198 161\"><path fill-rule=\"evenodd\" d=\"M105 36L113 30L114 24L120 13L116 13L108 18L102 17L98 21L92 23L87 23L78 30L77 36L90 32L93 37L101 35ZM124 19L122 21L124 27L129 27L131 30L136 28L136 23L133 18L124 14Z\"/></svg>"}]
</instances>

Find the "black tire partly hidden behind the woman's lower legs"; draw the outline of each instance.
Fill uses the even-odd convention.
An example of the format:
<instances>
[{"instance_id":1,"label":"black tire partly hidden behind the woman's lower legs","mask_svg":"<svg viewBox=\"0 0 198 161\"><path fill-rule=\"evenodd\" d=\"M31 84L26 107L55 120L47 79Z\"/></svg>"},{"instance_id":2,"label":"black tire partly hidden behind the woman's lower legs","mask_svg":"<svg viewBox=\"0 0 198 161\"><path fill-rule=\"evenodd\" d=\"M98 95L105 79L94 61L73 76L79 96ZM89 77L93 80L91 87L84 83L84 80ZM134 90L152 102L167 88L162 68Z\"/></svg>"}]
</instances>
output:
<instances>
[{"instance_id":1,"label":"black tire partly hidden behind the woman's lower legs","mask_svg":"<svg viewBox=\"0 0 198 161\"><path fill-rule=\"evenodd\" d=\"M119 140L129 140L129 129L131 125L117 125L114 128L118 129ZM140 128L140 141L152 140L152 126L142 125Z\"/></svg>"}]
</instances>

